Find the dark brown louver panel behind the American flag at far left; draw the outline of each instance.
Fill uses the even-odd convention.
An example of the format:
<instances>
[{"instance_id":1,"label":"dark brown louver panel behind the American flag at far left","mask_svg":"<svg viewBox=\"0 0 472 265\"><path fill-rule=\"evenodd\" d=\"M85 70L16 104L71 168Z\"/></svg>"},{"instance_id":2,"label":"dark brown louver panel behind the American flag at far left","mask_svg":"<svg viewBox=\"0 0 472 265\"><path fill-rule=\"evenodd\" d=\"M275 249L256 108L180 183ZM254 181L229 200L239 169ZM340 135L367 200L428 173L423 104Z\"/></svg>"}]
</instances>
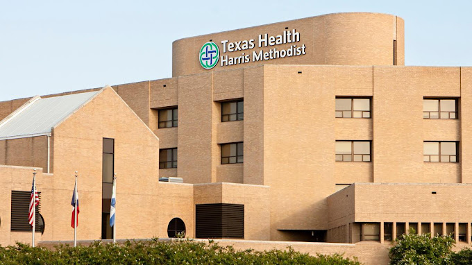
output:
<instances>
[{"instance_id":1,"label":"dark brown louver panel behind the American flag at far left","mask_svg":"<svg viewBox=\"0 0 472 265\"><path fill-rule=\"evenodd\" d=\"M44 221L41 212L41 192L37 193L40 197L40 205L36 206L36 232L44 231ZM11 231L28 231L31 232L31 225L28 223L29 202L31 191L12 191L12 207L11 207Z\"/></svg>"}]
</instances>

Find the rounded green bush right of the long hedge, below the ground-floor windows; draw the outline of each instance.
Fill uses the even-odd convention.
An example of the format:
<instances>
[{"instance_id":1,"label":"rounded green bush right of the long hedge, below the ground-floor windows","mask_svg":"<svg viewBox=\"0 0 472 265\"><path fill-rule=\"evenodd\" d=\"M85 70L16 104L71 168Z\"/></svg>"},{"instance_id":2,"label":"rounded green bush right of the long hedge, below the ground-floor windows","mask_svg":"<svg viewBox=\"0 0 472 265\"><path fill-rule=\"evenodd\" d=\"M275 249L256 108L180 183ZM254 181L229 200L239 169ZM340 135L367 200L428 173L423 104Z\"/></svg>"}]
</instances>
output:
<instances>
[{"instance_id":1,"label":"rounded green bush right of the long hedge, below the ground-floor windows","mask_svg":"<svg viewBox=\"0 0 472 265\"><path fill-rule=\"evenodd\" d=\"M433 237L430 234L403 234L390 248L390 264L430 265L450 264L450 253L454 246L451 237Z\"/></svg>"}]
</instances>

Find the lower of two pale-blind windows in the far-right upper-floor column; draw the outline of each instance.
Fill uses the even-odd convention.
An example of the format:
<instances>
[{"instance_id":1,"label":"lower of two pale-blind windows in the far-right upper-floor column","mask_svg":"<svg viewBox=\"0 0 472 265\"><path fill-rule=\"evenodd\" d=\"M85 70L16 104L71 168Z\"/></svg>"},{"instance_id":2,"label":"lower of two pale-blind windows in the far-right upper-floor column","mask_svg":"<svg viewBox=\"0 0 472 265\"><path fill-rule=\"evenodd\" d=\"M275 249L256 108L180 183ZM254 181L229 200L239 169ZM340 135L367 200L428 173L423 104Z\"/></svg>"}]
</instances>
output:
<instances>
[{"instance_id":1,"label":"lower of two pale-blind windows in the far-right upper-floor column","mask_svg":"<svg viewBox=\"0 0 472 265\"><path fill-rule=\"evenodd\" d=\"M424 162L458 162L458 142L424 142Z\"/></svg>"}]
</instances>

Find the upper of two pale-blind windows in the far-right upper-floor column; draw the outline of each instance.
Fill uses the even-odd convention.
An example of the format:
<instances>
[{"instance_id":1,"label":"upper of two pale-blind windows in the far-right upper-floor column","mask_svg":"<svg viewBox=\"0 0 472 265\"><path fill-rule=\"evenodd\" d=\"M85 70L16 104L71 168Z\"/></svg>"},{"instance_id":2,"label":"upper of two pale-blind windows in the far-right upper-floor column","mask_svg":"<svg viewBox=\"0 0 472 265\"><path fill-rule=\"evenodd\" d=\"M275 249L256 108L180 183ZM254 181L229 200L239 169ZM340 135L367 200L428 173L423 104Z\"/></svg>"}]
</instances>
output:
<instances>
[{"instance_id":1,"label":"upper of two pale-blind windows in the far-right upper-floor column","mask_svg":"<svg viewBox=\"0 0 472 265\"><path fill-rule=\"evenodd\" d=\"M423 99L424 119L457 119L457 99Z\"/></svg>"}]
</instances>

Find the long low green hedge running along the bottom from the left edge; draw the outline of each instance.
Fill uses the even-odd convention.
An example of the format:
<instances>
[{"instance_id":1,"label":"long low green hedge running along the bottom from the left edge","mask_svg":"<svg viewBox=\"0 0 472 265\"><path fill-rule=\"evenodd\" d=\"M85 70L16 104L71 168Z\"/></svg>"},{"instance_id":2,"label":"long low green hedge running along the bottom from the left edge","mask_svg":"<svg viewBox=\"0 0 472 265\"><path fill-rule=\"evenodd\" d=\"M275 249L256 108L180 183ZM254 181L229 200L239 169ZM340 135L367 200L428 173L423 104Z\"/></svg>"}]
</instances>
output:
<instances>
[{"instance_id":1,"label":"long low green hedge running along the bottom from the left edge","mask_svg":"<svg viewBox=\"0 0 472 265\"><path fill-rule=\"evenodd\" d=\"M0 264L316 264L358 265L342 255L317 255L287 250L235 250L231 246L178 240L126 241L120 244L92 243L76 248L60 245L55 250L26 244L2 248Z\"/></svg>"}]
</instances>

